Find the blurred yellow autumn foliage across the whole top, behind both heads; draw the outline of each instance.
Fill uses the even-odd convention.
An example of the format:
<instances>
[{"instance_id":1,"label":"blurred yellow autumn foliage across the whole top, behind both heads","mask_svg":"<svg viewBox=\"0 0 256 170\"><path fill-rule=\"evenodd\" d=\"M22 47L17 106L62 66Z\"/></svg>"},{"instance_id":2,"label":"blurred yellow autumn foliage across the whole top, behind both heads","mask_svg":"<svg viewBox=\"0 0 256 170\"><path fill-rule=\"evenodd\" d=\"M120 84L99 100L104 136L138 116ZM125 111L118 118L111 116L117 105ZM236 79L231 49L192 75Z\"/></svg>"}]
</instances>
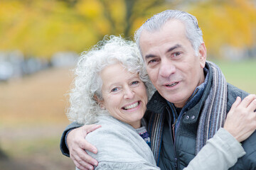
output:
<instances>
[{"instance_id":1,"label":"blurred yellow autumn foliage across the whole top, behind both heads","mask_svg":"<svg viewBox=\"0 0 256 170\"><path fill-rule=\"evenodd\" d=\"M183 1L80 0L71 6L68 2L1 0L0 51L21 50L25 56L48 58L58 51L80 53L106 34L132 38L147 18ZM255 44L256 12L250 0L208 0L189 4L186 11L198 18L212 53L227 44Z\"/></svg>"}]
</instances>

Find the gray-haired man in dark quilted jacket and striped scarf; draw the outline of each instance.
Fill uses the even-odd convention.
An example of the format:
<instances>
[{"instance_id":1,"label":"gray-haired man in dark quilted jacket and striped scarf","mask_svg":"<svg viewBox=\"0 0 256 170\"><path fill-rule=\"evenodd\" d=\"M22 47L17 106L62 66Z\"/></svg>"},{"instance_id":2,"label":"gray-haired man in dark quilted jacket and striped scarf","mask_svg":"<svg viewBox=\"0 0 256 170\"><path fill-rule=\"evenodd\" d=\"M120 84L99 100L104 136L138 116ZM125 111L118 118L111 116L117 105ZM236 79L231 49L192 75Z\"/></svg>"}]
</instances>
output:
<instances>
[{"instance_id":1,"label":"gray-haired man in dark quilted jacket and striped scarf","mask_svg":"<svg viewBox=\"0 0 256 170\"><path fill-rule=\"evenodd\" d=\"M235 98L245 98L248 94L226 83L220 69L206 61L201 29L189 13L172 10L158 13L137 30L135 40L157 90L144 116L151 139L154 139L151 149L156 163L161 169L183 169L206 145L206 140L223 127ZM252 111L248 116L256 124L256 114ZM67 132L79 126L71 124L63 133L60 147L66 155ZM87 127L83 131L90 130ZM242 142L246 154L231 169L256 169L255 141L254 132ZM73 145L68 139L68 146ZM83 149L97 150L90 144L83 145ZM87 158L81 156L81 159Z\"/></svg>"}]
</instances>

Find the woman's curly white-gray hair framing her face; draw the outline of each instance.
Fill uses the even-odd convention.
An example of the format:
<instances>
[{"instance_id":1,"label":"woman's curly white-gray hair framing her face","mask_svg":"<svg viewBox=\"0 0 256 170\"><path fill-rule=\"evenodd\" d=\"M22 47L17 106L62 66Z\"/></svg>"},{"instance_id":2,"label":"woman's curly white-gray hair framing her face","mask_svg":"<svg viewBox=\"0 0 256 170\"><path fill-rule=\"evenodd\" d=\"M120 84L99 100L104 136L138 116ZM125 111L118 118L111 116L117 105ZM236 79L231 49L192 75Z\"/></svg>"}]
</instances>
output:
<instances>
[{"instance_id":1,"label":"woman's curly white-gray hair framing her face","mask_svg":"<svg viewBox=\"0 0 256 170\"><path fill-rule=\"evenodd\" d=\"M91 50L82 52L74 69L75 79L73 89L70 91L70 107L67 111L69 120L90 124L97 121L98 115L109 114L100 108L95 96L102 100L100 72L111 64L120 63L129 72L138 73L150 97L154 87L139 55L136 43L114 35L105 36Z\"/></svg>"}]
</instances>

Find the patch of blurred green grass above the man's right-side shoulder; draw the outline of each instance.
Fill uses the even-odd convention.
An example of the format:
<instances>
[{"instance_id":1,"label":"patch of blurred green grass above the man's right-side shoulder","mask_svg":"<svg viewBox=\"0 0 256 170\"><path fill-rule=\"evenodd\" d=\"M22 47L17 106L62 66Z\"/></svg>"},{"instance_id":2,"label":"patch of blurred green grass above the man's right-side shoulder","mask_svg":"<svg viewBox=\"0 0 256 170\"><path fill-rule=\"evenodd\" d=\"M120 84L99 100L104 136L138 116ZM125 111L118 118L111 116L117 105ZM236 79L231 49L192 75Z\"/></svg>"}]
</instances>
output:
<instances>
[{"instance_id":1,"label":"patch of blurred green grass above the man's right-side shoulder","mask_svg":"<svg viewBox=\"0 0 256 170\"><path fill-rule=\"evenodd\" d=\"M218 64L228 83L250 94L256 94L256 60L214 62Z\"/></svg>"}]
</instances>

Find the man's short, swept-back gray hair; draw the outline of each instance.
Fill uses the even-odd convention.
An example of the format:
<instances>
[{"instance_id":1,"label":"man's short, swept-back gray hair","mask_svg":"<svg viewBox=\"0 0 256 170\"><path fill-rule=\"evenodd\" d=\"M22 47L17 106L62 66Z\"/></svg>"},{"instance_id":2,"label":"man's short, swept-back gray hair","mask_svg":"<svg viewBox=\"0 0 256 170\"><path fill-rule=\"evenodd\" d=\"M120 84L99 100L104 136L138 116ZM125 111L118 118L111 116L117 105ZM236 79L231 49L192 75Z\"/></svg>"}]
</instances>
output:
<instances>
[{"instance_id":1,"label":"man's short, swept-back gray hair","mask_svg":"<svg viewBox=\"0 0 256 170\"><path fill-rule=\"evenodd\" d=\"M166 10L161 13L157 13L156 15L149 18L134 34L134 39L137 42L139 50L141 50L139 46L139 38L142 34L142 31L145 29L150 32L154 32L159 30L167 21L171 19L176 19L185 24L186 28L186 37L191 42L193 49L195 50L195 54L198 55L198 48L201 43L203 43L203 33L201 28L198 26L198 21L195 16L192 16L190 13L186 13L184 11L176 11L176 10ZM141 51L142 52L142 51Z\"/></svg>"}]
</instances>

